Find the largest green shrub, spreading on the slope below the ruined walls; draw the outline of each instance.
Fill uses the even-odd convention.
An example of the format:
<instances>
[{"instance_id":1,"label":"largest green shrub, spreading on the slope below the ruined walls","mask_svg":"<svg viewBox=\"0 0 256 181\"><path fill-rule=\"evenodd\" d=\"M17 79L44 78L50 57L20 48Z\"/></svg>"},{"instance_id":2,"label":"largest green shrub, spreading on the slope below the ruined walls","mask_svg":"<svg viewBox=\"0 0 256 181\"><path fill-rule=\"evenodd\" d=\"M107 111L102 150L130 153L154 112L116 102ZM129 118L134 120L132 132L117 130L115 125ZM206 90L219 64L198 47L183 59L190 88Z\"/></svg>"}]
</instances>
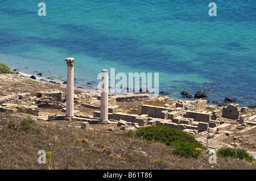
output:
<instances>
[{"instance_id":1,"label":"largest green shrub, spreading on the slope below the ruined walls","mask_svg":"<svg viewBox=\"0 0 256 181\"><path fill-rule=\"evenodd\" d=\"M197 158L201 153L201 149L206 149L203 145L197 142L193 136L179 129L170 127L159 125L144 127L137 131L130 131L129 134L133 137L142 137L146 140L162 142L167 146L174 148L173 153L181 155L182 157Z\"/></svg>"}]
</instances>

